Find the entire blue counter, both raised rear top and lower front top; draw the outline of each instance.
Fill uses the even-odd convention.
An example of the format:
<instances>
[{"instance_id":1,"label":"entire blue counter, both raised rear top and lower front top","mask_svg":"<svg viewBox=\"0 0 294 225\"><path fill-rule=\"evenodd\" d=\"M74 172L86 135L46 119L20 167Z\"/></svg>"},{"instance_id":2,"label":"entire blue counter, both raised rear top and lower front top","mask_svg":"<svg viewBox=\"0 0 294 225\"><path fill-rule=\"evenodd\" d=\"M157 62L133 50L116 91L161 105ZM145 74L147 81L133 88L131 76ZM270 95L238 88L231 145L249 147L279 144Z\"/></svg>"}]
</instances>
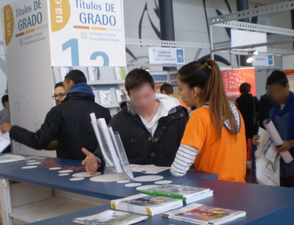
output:
<instances>
[{"instance_id":1,"label":"entire blue counter, both raised rear top and lower front top","mask_svg":"<svg viewBox=\"0 0 294 225\"><path fill-rule=\"evenodd\" d=\"M81 161L79 160L60 158L40 158L36 160L40 161L41 163L37 165L38 167L32 169L22 169L23 166L27 166L26 161L0 164L0 177L2 178L1 190L4 191L4 194L5 190L7 190L7 188L5 189L4 185L7 184L7 179L108 200L123 198L125 196L139 193L135 187L125 187L124 183L93 182L89 178L79 181L69 180L69 178L72 177L72 174L84 171L84 168L80 164ZM60 170L70 169L73 170L73 172L71 172L68 176L58 176L59 170L49 170L51 167L61 167ZM146 175L147 174L141 173L134 174L135 177ZM198 201L198 203L229 209L244 210L247 212L245 218L238 219L234 222L228 223L227 225L294 224L293 188L221 181L216 180L217 176L215 174L207 173L188 172L187 175L182 178L172 177L169 171L164 171L156 175L163 176L164 180L172 180L172 183L174 184L209 187L214 191L213 197ZM5 180L6 183L3 182ZM142 183L143 185L148 185L154 184L154 181ZM6 202L1 201L1 209L2 206L5 207L5 204ZM49 220L40 221L34 224L74 224L72 223L74 217L95 214L105 209L109 209L108 204ZM156 215L150 217L145 222L141 222L140 224L179 225L184 223L161 218L160 215Z\"/></svg>"}]
</instances>

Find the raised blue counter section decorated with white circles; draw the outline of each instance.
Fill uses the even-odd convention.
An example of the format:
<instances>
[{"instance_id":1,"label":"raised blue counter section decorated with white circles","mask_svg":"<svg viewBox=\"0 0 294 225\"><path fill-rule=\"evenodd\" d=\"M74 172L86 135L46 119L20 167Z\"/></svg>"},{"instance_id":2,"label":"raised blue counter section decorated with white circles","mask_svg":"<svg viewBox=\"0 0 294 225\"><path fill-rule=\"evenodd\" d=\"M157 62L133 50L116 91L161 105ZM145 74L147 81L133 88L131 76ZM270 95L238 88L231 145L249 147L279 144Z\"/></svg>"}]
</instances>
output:
<instances>
[{"instance_id":1,"label":"raised blue counter section decorated with white circles","mask_svg":"<svg viewBox=\"0 0 294 225\"><path fill-rule=\"evenodd\" d=\"M12 225L9 180L16 180L24 183L35 184L57 190L73 192L76 194L97 197L101 199L119 199L125 196L140 193L135 187L125 187L124 183L117 182L94 182L90 178L84 180L71 181L75 173L85 172L80 160L62 158L31 158L39 164L30 165L26 160L0 163L0 204L3 224ZM34 162L33 162L34 163ZM36 166L31 169L22 169L25 166ZM59 170L49 170L52 167L61 167ZM58 176L58 171L73 170L68 176ZM134 177L146 176L147 174L134 173ZM159 174L164 179L172 180L172 183L180 184L189 180L199 180L201 178L217 179L216 174L209 173L188 173L183 178L174 178L170 171ZM152 182L142 182L143 185L154 184Z\"/></svg>"}]
</instances>

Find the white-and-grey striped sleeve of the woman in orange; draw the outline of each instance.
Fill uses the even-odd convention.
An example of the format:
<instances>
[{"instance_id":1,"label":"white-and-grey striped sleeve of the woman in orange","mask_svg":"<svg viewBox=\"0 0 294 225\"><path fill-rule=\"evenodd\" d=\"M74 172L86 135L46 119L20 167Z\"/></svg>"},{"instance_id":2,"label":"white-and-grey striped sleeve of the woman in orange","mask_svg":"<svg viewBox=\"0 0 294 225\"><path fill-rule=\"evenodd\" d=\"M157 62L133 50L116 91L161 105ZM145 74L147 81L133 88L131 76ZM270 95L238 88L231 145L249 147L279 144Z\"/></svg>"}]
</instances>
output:
<instances>
[{"instance_id":1,"label":"white-and-grey striped sleeve of the woman in orange","mask_svg":"<svg viewBox=\"0 0 294 225\"><path fill-rule=\"evenodd\" d=\"M190 145L181 144L172 163L172 176L184 176L189 170L190 166L194 163L198 153L199 150L197 148Z\"/></svg>"}]
</instances>

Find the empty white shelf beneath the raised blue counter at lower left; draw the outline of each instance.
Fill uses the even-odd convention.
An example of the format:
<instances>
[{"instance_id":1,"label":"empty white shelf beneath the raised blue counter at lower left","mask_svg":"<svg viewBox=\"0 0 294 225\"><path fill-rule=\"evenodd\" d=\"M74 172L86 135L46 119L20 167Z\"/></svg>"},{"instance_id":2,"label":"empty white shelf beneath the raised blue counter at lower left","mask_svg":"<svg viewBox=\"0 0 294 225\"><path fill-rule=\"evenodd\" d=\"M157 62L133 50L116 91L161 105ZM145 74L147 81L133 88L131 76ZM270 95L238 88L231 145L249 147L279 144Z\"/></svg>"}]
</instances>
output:
<instances>
[{"instance_id":1,"label":"empty white shelf beneath the raised blue counter at lower left","mask_svg":"<svg viewBox=\"0 0 294 225\"><path fill-rule=\"evenodd\" d=\"M84 203L76 200L53 197L48 200L12 208L10 216L25 223L46 220L49 218L88 209L98 204Z\"/></svg>"}]
</instances>

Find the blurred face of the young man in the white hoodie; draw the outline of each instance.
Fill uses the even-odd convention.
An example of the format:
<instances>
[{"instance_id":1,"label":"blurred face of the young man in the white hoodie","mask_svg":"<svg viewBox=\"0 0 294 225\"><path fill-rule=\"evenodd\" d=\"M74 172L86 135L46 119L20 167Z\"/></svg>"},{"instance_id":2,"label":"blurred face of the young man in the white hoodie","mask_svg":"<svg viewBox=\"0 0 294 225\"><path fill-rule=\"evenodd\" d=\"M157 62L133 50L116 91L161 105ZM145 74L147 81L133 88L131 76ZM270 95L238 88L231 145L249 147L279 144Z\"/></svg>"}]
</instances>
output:
<instances>
[{"instance_id":1,"label":"blurred face of the young man in the white hoodie","mask_svg":"<svg viewBox=\"0 0 294 225\"><path fill-rule=\"evenodd\" d=\"M155 106L155 90L149 84L144 84L139 88L130 90L130 102L135 111L144 116L151 113Z\"/></svg>"}]
</instances>

